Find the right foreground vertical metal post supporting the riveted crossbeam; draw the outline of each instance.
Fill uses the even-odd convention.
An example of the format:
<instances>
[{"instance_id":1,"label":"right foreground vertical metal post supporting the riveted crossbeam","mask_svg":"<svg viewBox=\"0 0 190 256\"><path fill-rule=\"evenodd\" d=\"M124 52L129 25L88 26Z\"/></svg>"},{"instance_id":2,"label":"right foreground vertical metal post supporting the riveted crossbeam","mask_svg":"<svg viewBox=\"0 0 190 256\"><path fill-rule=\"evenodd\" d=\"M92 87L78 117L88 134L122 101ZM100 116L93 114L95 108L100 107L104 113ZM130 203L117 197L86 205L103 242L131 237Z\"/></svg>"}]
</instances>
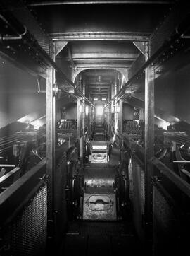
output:
<instances>
[{"instance_id":1,"label":"right foreground vertical metal post supporting the riveted crossbeam","mask_svg":"<svg viewBox=\"0 0 190 256\"><path fill-rule=\"evenodd\" d=\"M150 45L146 42L146 61L149 57ZM154 71L148 66L145 71L145 209L144 221L147 238L152 233L152 184L153 165L149 162L154 155Z\"/></svg>"}]
</instances>

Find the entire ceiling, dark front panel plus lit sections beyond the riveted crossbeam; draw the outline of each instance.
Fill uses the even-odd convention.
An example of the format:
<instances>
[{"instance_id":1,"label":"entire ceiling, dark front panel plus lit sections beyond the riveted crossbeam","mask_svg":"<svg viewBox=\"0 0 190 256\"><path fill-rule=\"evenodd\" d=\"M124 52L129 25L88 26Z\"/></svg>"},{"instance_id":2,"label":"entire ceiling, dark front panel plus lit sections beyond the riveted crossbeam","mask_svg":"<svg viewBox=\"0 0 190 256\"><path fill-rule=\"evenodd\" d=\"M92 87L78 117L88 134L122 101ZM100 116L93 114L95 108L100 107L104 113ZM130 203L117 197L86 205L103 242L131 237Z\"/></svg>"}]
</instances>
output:
<instances>
[{"instance_id":1,"label":"entire ceiling, dark front panel plus lit sections beyond the riveted crossbeam","mask_svg":"<svg viewBox=\"0 0 190 256\"><path fill-rule=\"evenodd\" d=\"M80 69L92 98L108 98L110 86L120 69L127 79L127 70L141 52L134 45L134 35L151 35L174 1L26 1L42 28L56 43L63 42L58 54L70 68ZM73 35L85 34L83 39ZM88 37L89 33L89 38ZM91 33L94 33L91 37ZM109 35L105 40L96 35ZM118 33L118 37L115 37ZM121 33L131 40L121 40ZM65 39L71 35L71 39ZM108 39L108 38L107 38ZM116 71L118 70L118 71ZM101 75L99 73L101 72ZM116 75L117 74L117 75ZM121 83L121 81L120 81ZM89 90L90 89L90 90Z\"/></svg>"}]
</instances>

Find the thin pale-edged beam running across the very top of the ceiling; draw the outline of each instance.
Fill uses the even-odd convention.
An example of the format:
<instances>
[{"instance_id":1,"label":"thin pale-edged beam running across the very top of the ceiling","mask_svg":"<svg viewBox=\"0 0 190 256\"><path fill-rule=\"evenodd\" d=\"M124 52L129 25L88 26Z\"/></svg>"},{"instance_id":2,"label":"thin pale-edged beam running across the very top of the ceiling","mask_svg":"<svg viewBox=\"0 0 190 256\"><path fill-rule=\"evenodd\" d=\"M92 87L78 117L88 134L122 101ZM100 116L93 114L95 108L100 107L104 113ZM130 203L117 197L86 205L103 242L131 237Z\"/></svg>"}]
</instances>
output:
<instances>
[{"instance_id":1,"label":"thin pale-edged beam running across the very top of the ceiling","mask_svg":"<svg viewBox=\"0 0 190 256\"><path fill-rule=\"evenodd\" d=\"M94 1L33 1L29 6L59 6L68 4L174 4L175 1L128 1L128 0L94 0Z\"/></svg>"}]
</instances>

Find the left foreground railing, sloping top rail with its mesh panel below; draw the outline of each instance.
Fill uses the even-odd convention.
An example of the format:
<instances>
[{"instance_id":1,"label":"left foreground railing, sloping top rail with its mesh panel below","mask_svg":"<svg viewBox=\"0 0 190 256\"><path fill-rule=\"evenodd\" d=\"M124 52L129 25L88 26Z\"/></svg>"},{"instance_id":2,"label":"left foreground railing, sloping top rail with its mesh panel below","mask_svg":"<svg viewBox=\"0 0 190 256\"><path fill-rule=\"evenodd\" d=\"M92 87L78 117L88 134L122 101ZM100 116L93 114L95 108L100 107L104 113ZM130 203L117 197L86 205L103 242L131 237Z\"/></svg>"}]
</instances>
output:
<instances>
[{"instance_id":1,"label":"left foreground railing, sloping top rail with its mesh panel below","mask_svg":"<svg viewBox=\"0 0 190 256\"><path fill-rule=\"evenodd\" d=\"M39 255L46 249L46 160L0 194L0 255Z\"/></svg>"}]
</instances>

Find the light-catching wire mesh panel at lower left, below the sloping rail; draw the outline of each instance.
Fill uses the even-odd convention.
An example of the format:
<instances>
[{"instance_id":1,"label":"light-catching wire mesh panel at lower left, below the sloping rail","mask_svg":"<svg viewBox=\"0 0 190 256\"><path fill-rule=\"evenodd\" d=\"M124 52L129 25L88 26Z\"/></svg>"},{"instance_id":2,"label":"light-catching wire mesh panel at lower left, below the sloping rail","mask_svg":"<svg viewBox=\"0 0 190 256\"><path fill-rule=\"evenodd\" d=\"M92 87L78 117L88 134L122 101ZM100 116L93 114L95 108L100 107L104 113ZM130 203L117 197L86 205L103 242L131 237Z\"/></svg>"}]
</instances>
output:
<instances>
[{"instance_id":1,"label":"light-catching wire mesh panel at lower left, below the sloping rail","mask_svg":"<svg viewBox=\"0 0 190 256\"><path fill-rule=\"evenodd\" d=\"M4 231L2 255L44 255L47 226L47 186L34 195Z\"/></svg>"}]
</instances>

